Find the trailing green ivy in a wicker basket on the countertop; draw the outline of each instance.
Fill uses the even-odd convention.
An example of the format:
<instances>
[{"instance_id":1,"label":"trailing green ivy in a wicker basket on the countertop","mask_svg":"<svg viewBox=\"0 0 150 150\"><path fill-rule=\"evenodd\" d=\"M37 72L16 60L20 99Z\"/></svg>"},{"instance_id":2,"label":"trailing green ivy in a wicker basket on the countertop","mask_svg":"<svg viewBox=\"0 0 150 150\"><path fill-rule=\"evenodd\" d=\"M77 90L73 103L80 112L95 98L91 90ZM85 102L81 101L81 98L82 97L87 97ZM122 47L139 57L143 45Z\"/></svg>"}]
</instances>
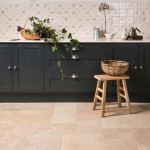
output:
<instances>
[{"instance_id":1,"label":"trailing green ivy in a wicker basket on the countertop","mask_svg":"<svg viewBox=\"0 0 150 150\"><path fill-rule=\"evenodd\" d=\"M27 21L30 21L32 30L26 29ZM49 26L49 24L50 24L49 19L40 20L37 17L32 16L26 20L24 28L18 26L17 30L19 32L21 32L21 35L27 40L38 40L38 39L42 38L42 39L44 39L44 41L46 43L50 42L51 44L53 44L51 51L56 52L58 55L57 66L60 70L62 80L63 80L64 73L63 73L63 69L62 69L62 65L61 65L61 59L65 59L65 56L60 54L58 51L59 41L60 40L62 41L62 43L65 47L65 50L67 52L70 52L70 54L72 54L71 48L78 48L81 45L80 45L79 41L77 39L74 39L72 37L72 34L68 33L65 28L63 28L62 30L56 30L56 29L52 29ZM65 38L67 38L69 40L70 46L68 46L67 44L65 44L63 42L63 40Z\"/></svg>"}]
</instances>

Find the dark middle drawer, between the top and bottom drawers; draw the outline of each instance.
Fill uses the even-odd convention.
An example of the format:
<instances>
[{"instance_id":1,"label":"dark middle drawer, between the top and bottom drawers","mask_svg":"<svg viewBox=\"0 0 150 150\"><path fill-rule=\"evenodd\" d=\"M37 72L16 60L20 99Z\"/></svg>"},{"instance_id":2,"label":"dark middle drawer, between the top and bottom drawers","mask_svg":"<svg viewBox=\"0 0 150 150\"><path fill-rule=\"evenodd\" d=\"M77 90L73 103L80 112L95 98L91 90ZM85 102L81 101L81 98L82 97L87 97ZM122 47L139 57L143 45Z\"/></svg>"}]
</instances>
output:
<instances>
[{"instance_id":1,"label":"dark middle drawer, between the top and bottom drawers","mask_svg":"<svg viewBox=\"0 0 150 150\"><path fill-rule=\"evenodd\" d=\"M62 60L61 64L65 78L70 78L72 74L78 74L79 78L93 78L95 74L102 73L100 62L101 60ZM57 60L50 60L45 66L46 74L50 74L51 78L61 78Z\"/></svg>"}]
</instances>

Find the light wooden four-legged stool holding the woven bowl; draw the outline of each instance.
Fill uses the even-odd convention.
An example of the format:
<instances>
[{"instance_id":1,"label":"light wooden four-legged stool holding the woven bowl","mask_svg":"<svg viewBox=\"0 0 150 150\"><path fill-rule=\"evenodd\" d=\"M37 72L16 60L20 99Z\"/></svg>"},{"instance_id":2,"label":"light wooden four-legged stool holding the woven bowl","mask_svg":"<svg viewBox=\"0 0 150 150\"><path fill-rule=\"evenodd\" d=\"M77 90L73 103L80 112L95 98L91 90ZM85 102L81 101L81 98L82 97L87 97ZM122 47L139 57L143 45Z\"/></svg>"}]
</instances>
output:
<instances>
[{"instance_id":1,"label":"light wooden four-legged stool holding the woven bowl","mask_svg":"<svg viewBox=\"0 0 150 150\"><path fill-rule=\"evenodd\" d=\"M110 76L110 75L95 75L94 78L97 79L97 87L95 91L94 96L94 102L93 102L93 110L96 108L96 106L99 106L97 104L97 100L101 101L101 117L104 117L105 113L107 112L114 112L114 111L123 111L128 110L129 113L131 113L131 106L130 106L130 100L126 85L126 79L129 79L129 76L121 75L121 76ZM107 88L107 81L108 80L116 80L117 83L117 98L118 102L112 102L112 103L106 103L106 88ZM120 86L120 81L122 80L123 87ZM101 83L103 83L101 88ZM120 91L123 91L124 94L122 94ZM102 97L99 95L99 93L102 93ZM127 107L121 108L121 97L126 100ZM113 105L118 104L119 108L116 109L105 109L105 105Z\"/></svg>"}]
</instances>

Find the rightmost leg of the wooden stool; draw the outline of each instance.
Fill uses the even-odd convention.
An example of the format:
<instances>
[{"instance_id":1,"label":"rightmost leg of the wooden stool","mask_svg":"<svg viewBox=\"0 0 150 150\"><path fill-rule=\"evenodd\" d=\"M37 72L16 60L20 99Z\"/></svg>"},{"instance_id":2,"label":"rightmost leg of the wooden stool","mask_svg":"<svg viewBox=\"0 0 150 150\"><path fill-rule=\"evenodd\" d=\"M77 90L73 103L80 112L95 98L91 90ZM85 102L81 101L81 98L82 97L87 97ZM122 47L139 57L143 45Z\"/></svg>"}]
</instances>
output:
<instances>
[{"instance_id":1,"label":"rightmost leg of the wooden stool","mask_svg":"<svg viewBox=\"0 0 150 150\"><path fill-rule=\"evenodd\" d=\"M128 95L126 80L123 79L122 83L123 83L123 89L124 89L124 94L125 94L125 98L126 98L127 107L128 107L129 113L131 114L132 111L131 111L131 106L130 106L130 99L129 99L129 95Z\"/></svg>"}]
</instances>

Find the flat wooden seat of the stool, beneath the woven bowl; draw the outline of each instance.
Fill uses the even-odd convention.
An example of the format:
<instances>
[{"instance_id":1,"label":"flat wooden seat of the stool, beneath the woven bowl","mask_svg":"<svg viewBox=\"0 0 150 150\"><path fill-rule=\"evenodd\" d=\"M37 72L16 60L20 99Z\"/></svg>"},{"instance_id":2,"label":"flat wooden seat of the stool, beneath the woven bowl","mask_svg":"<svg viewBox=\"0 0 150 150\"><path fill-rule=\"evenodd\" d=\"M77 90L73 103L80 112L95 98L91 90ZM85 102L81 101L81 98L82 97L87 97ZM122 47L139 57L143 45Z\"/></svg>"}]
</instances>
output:
<instances>
[{"instance_id":1,"label":"flat wooden seat of the stool, beneath the woven bowl","mask_svg":"<svg viewBox=\"0 0 150 150\"><path fill-rule=\"evenodd\" d=\"M129 76L127 75L110 76L107 74L102 74L102 75L94 75L94 78L97 80L122 80L122 79L129 79Z\"/></svg>"}]
</instances>

